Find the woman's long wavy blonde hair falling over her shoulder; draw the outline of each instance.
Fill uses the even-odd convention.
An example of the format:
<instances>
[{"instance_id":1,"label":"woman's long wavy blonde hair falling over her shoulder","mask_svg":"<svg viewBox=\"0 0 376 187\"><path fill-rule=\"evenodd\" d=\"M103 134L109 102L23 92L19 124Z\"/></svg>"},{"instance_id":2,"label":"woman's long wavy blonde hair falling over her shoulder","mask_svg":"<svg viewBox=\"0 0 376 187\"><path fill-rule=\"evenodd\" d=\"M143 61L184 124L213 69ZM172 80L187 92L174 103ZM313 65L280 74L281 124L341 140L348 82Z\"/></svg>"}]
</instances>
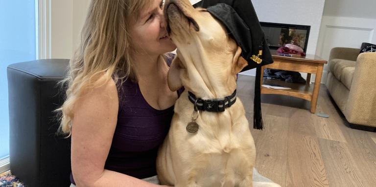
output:
<instances>
[{"instance_id":1,"label":"woman's long wavy blonde hair falling over her shoulder","mask_svg":"<svg viewBox=\"0 0 376 187\"><path fill-rule=\"evenodd\" d=\"M131 19L153 0L92 0L81 33L81 43L70 61L68 77L62 81L66 87L66 100L56 109L59 115L58 132L71 136L73 107L83 90L114 79L135 80L132 68L131 39L128 33ZM99 82L99 77L105 79Z\"/></svg>"}]
</instances>

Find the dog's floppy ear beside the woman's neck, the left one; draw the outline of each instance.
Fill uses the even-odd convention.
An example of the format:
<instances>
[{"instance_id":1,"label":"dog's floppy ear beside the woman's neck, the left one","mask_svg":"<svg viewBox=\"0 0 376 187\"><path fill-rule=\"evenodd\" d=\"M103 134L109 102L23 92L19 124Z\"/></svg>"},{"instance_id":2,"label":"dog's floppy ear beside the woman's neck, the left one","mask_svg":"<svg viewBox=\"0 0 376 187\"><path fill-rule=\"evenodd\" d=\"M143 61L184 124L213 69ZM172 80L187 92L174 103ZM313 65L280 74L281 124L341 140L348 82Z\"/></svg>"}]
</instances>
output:
<instances>
[{"instance_id":1,"label":"dog's floppy ear beside the woman's neck, the left one","mask_svg":"<svg viewBox=\"0 0 376 187\"><path fill-rule=\"evenodd\" d=\"M179 57L176 56L175 59L172 60L170 69L168 70L167 83L171 91L176 91L183 86L182 80L180 79L180 70L182 69L180 63L182 62Z\"/></svg>"}]
</instances>

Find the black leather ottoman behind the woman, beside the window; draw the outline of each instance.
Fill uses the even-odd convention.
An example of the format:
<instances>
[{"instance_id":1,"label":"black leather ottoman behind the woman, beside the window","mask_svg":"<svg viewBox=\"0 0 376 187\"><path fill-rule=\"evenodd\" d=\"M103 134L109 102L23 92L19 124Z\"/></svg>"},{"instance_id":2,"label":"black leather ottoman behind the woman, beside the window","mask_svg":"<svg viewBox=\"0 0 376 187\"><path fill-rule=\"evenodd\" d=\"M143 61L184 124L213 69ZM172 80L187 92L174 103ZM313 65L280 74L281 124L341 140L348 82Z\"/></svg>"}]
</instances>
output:
<instances>
[{"instance_id":1,"label":"black leather ottoman behind the woman, beside the window","mask_svg":"<svg viewBox=\"0 0 376 187\"><path fill-rule=\"evenodd\" d=\"M65 90L56 83L69 60L47 59L8 66L10 170L27 187L69 187L71 142L57 136L52 112Z\"/></svg>"}]
</instances>

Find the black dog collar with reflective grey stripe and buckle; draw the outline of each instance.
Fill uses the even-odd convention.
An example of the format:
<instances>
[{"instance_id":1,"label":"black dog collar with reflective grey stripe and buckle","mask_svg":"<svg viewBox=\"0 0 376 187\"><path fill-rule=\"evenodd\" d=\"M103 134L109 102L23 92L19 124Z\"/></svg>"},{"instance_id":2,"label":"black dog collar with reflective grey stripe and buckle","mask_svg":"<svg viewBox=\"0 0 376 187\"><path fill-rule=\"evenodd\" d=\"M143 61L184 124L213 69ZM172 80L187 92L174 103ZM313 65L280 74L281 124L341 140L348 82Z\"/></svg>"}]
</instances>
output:
<instances>
[{"instance_id":1,"label":"black dog collar with reflective grey stripe and buckle","mask_svg":"<svg viewBox=\"0 0 376 187\"><path fill-rule=\"evenodd\" d=\"M188 99L194 104L194 110L202 110L209 112L224 112L226 107L230 107L236 101L236 90L231 96L227 96L224 99L209 99L202 100L196 98L194 94L188 91Z\"/></svg>"}]
</instances>

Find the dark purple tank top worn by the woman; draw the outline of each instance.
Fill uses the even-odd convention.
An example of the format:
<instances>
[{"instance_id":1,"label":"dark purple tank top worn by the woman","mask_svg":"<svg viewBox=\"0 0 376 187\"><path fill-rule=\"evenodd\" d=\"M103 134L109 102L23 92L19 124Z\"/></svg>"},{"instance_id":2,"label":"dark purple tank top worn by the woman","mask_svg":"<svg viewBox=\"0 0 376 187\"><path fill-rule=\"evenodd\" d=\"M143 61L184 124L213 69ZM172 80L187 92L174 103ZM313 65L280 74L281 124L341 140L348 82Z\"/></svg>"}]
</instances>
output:
<instances>
[{"instance_id":1,"label":"dark purple tank top worn by the woman","mask_svg":"<svg viewBox=\"0 0 376 187\"><path fill-rule=\"evenodd\" d=\"M167 59L168 65L172 58ZM174 106L157 110L141 94L138 83L125 81L118 91L118 123L104 168L139 179L157 174L159 145L170 127ZM178 96L184 91L177 91ZM71 183L74 183L71 174Z\"/></svg>"}]
</instances>

